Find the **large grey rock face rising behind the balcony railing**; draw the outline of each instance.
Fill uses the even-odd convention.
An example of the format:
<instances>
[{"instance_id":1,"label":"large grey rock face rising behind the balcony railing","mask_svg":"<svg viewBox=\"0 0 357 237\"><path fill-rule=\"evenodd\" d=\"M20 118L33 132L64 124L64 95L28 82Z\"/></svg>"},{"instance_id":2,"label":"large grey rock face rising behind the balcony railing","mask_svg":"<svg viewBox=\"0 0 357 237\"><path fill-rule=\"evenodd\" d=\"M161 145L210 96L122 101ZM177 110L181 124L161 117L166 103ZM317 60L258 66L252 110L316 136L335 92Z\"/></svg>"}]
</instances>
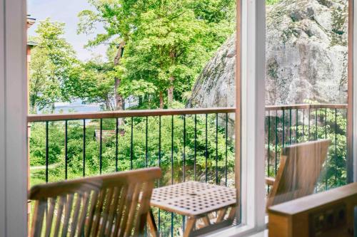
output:
<instances>
[{"instance_id":1,"label":"large grey rock face rising behind the balcony railing","mask_svg":"<svg viewBox=\"0 0 357 237\"><path fill-rule=\"evenodd\" d=\"M283 0L266 13L266 104L346 102L346 0ZM234 106L235 38L210 60L188 107Z\"/></svg>"}]
</instances>

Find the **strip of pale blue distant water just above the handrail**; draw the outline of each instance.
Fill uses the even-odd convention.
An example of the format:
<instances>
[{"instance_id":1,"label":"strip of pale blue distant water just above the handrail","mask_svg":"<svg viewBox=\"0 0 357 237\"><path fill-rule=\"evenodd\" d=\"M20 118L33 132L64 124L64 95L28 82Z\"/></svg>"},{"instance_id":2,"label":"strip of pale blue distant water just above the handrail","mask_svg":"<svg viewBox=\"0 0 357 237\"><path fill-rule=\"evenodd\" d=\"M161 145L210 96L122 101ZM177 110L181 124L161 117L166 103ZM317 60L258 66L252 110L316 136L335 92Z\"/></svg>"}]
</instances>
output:
<instances>
[{"instance_id":1,"label":"strip of pale blue distant water just above the handrail","mask_svg":"<svg viewBox=\"0 0 357 237\"><path fill-rule=\"evenodd\" d=\"M99 104L83 104L82 100L75 100L74 102L58 102L54 104L55 113L66 112L99 112L101 106ZM39 113L42 113L40 111Z\"/></svg>"}]
</instances>

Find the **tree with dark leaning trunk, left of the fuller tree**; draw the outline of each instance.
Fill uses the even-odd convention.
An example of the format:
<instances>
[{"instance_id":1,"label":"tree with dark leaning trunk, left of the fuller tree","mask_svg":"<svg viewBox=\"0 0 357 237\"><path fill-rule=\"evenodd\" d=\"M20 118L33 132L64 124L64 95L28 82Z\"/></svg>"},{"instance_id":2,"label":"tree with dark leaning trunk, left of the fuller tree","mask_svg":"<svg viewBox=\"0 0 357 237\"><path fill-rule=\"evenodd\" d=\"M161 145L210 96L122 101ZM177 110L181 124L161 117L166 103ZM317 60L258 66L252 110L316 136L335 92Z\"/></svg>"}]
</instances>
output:
<instances>
[{"instance_id":1,"label":"tree with dark leaning trunk, left of the fuller tree","mask_svg":"<svg viewBox=\"0 0 357 237\"><path fill-rule=\"evenodd\" d=\"M114 45L117 48L113 59L114 66L121 64L124 47L134 31L136 21L139 21L140 11L145 9L145 0L89 0L96 11L84 10L79 13L78 33L91 34L96 30L96 23L102 23L106 33L97 33L96 37L87 43L87 47L99 44ZM116 98L116 110L124 109L124 97L119 93L121 77L114 80L114 93Z\"/></svg>"}]
</instances>

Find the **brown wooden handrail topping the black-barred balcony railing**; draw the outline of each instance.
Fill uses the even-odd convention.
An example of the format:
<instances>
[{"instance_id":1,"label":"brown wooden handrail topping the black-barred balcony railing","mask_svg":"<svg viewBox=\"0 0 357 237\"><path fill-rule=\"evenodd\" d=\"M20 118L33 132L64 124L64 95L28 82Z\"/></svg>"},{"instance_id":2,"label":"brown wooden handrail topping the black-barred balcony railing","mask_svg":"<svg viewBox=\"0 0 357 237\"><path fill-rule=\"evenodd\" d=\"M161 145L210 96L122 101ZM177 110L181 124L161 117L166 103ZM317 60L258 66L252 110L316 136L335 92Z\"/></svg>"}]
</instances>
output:
<instances>
[{"instance_id":1,"label":"brown wooden handrail topping the black-barred balcony railing","mask_svg":"<svg viewBox=\"0 0 357 237\"><path fill-rule=\"evenodd\" d=\"M347 104L300 104L300 105L267 105L266 111L271 110L301 110L301 109L347 109ZM116 117L146 117L146 116L168 116L168 115L206 115L224 114L235 112L234 107L222 108L193 108L177 110L120 110L106 112L75 112L50 115L28 115L27 122L46 122L64 120L95 120Z\"/></svg>"}]
</instances>

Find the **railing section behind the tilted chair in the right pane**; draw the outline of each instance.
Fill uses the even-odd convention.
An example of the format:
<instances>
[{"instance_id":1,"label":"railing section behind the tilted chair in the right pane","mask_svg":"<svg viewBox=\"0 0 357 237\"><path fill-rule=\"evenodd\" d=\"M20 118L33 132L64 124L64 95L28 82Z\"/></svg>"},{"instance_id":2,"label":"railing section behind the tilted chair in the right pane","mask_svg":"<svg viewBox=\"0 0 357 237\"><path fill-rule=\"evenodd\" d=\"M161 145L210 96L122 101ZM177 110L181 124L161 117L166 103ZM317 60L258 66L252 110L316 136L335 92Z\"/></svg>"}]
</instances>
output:
<instances>
[{"instance_id":1,"label":"railing section behind the tilted chair in the right pane","mask_svg":"<svg viewBox=\"0 0 357 237\"><path fill-rule=\"evenodd\" d=\"M283 147L328 138L331 147L316 191L346 184L346 117L345 104L266 106L266 176L276 176Z\"/></svg>"}]
</instances>

